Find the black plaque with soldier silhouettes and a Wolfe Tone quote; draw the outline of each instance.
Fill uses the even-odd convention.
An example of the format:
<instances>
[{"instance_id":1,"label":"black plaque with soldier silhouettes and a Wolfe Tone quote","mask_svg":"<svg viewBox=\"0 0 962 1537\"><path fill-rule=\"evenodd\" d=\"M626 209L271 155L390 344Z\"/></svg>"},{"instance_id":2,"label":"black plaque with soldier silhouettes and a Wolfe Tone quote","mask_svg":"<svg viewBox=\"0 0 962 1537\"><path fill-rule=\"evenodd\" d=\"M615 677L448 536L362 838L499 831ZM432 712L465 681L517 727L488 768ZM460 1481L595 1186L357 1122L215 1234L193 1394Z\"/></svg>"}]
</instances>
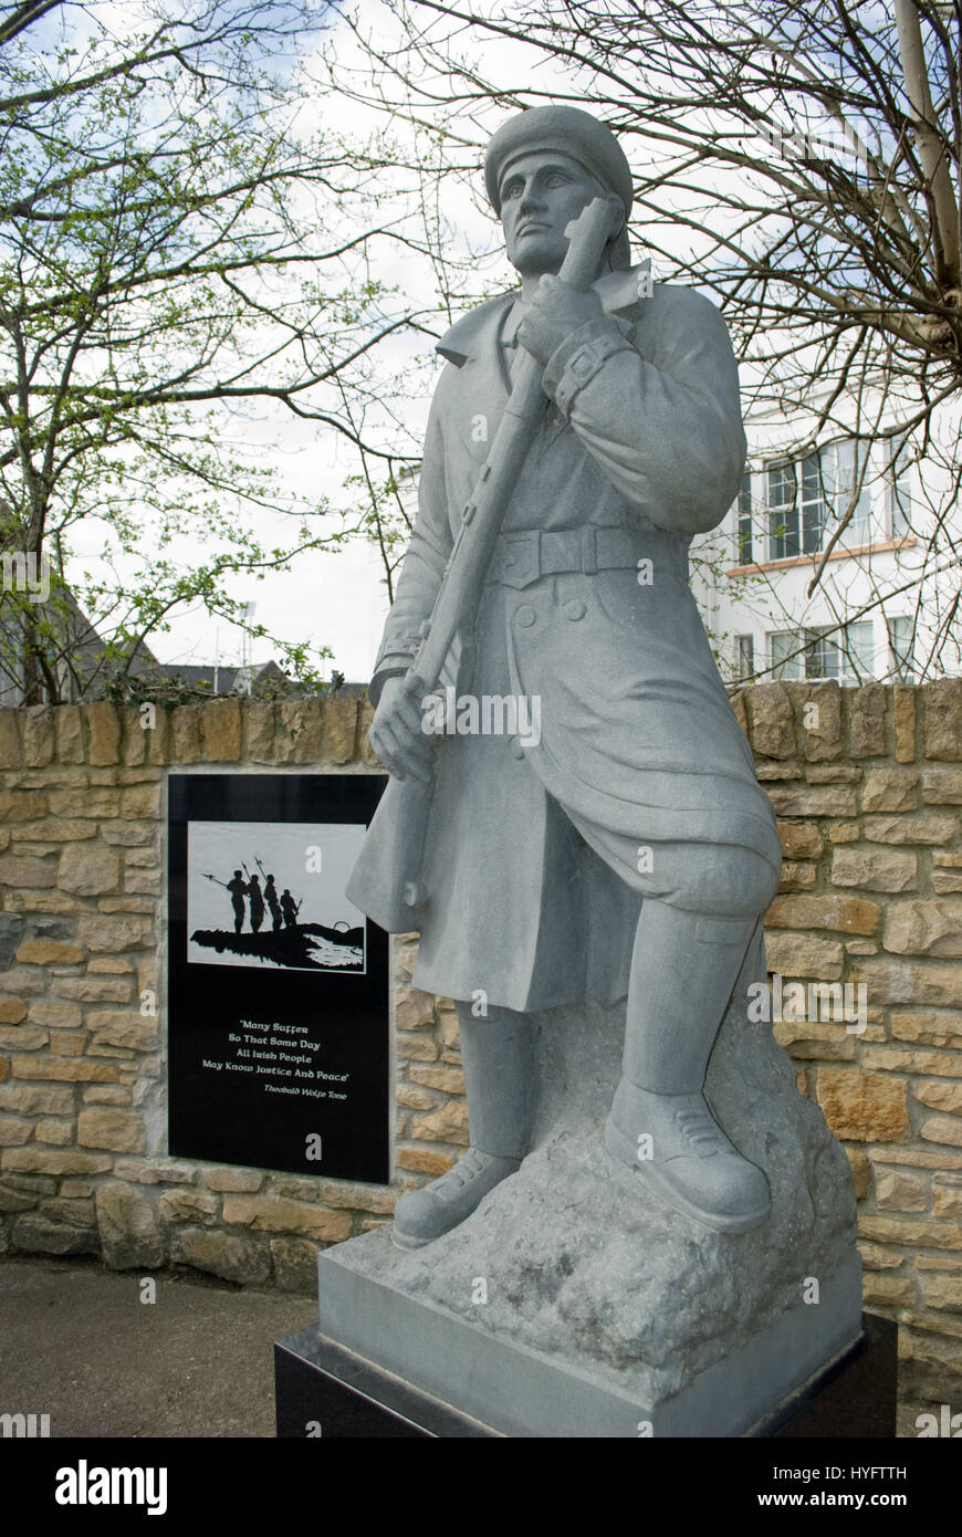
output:
<instances>
[{"instance_id":1,"label":"black plaque with soldier silhouettes and a Wolfe Tone quote","mask_svg":"<svg viewBox=\"0 0 962 1537\"><path fill-rule=\"evenodd\" d=\"M387 1183L387 934L344 898L386 782L171 776L171 1153Z\"/></svg>"}]
</instances>

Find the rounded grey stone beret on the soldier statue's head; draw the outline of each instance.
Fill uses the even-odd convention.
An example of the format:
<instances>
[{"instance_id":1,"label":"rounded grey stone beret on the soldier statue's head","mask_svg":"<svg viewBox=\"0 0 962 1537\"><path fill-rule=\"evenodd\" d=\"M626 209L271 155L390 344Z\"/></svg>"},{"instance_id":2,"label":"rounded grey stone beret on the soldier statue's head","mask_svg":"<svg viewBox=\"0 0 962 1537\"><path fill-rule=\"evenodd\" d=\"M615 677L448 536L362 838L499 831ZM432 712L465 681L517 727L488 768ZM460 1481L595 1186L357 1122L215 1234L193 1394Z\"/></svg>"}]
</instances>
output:
<instances>
[{"instance_id":1,"label":"rounded grey stone beret on the soldier statue's head","mask_svg":"<svg viewBox=\"0 0 962 1537\"><path fill-rule=\"evenodd\" d=\"M539 149L576 160L602 188L621 198L625 217L632 212L632 168L612 129L581 108L552 105L516 112L492 137L484 157L484 184L495 214L501 214L501 181L507 168L521 155ZM622 231L613 244L612 266L627 267L630 260Z\"/></svg>"}]
</instances>

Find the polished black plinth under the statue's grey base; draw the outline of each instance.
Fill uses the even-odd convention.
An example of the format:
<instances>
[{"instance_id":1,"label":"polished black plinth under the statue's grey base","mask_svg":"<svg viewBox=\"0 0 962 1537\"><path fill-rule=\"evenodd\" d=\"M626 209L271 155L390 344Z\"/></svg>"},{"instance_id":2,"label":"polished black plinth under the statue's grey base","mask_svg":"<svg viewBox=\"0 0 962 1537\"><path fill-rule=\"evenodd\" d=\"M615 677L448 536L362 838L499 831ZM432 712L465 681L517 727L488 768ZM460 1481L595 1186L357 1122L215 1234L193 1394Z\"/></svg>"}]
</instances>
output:
<instances>
[{"instance_id":1,"label":"polished black plinth under the statue's grey base","mask_svg":"<svg viewBox=\"0 0 962 1537\"><path fill-rule=\"evenodd\" d=\"M778 1403L747 1436L893 1439L897 1325L865 1313L862 1328L864 1336L851 1351ZM317 1328L278 1340L274 1362L281 1439L499 1434L343 1349Z\"/></svg>"}]
</instances>

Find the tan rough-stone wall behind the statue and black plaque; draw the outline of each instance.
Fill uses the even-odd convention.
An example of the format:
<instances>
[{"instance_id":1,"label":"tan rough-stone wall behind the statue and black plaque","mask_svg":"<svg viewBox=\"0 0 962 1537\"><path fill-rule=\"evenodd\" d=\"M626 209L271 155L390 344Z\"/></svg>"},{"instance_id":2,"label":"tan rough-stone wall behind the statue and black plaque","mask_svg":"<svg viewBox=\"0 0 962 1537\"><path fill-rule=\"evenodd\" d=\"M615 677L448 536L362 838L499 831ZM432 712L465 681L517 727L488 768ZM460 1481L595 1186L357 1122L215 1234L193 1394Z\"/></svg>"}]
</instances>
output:
<instances>
[{"instance_id":1,"label":"tan rough-stone wall behind the statue and black plaque","mask_svg":"<svg viewBox=\"0 0 962 1537\"><path fill-rule=\"evenodd\" d=\"M904 1323L910 1374L945 1380L962 1374L962 679L767 684L736 710L785 853L770 970L785 998L838 982L867 1004L864 1028L808 1011L775 1030L851 1160L865 1300ZM390 1190L164 1154L166 767L377 772L367 718L353 699L0 710L0 1247L310 1291L318 1247L459 1156L456 1019L412 988L415 936L393 948Z\"/></svg>"}]
</instances>

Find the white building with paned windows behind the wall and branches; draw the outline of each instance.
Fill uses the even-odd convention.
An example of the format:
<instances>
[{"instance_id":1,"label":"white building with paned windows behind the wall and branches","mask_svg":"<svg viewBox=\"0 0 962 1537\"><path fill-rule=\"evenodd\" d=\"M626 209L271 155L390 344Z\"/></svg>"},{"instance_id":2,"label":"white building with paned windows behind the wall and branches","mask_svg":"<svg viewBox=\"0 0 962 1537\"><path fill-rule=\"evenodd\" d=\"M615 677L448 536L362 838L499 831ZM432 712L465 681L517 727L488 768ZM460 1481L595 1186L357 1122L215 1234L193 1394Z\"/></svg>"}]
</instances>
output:
<instances>
[{"instance_id":1,"label":"white building with paned windows behind the wall and branches","mask_svg":"<svg viewBox=\"0 0 962 1537\"><path fill-rule=\"evenodd\" d=\"M899 426L879 420L882 432ZM924 456L917 432L870 447L854 432L822 432L816 447L782 413L747 430L738 501L692 544L692 586L725 681L962 673L957 421L944 417Z\"/></svg>"}]
</instances>

